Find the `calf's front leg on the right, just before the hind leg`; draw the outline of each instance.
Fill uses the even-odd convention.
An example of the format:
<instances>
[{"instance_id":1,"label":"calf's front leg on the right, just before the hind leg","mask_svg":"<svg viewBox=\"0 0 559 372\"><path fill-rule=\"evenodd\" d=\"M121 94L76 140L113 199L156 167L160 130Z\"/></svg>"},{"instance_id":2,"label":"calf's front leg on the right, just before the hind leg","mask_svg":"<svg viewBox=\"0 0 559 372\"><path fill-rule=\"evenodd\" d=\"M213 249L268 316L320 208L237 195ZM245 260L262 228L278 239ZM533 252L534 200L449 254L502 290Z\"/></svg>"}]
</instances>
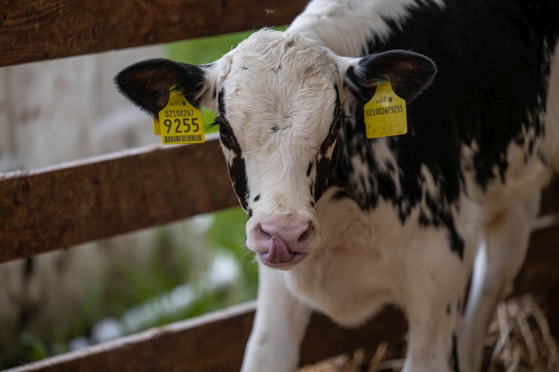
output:
<instances>
[{"instance_id":1,"label":"calf's front leg on the right, just before the hind leg","mask_svg":"<svg viewBox=\"0 0 559 372\"><path fill-rule=\"evenodd\" d=\"M448 246L446 231L432 230L411 247L403 293L409 342L402 372L458 371L458 303L465 292L470 265ZM467 247L466 249L468 249ZM466 371L464 371L466 372Z\"/></svg>"}]
</instances>

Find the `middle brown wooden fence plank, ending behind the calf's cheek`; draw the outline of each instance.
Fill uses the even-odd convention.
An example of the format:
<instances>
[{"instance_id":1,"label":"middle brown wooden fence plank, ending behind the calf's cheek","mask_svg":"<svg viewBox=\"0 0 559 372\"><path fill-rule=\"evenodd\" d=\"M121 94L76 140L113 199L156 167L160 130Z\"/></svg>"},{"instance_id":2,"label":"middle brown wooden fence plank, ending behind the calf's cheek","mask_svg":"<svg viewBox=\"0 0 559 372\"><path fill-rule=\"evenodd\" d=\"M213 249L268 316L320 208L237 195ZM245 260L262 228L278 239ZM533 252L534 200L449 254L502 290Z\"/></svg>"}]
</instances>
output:
<instances>
[{"instance_id":1,"label":"middle brown wooden fence plank, ending behind the calf's cheek","mask_svg":"<svg viewBox=\"0 0 559 372\"><path fill-rule=\"evenodd\" d=\"M0 262L238 205L212 138L0 175Z\"/></svg>"}]
</instances>

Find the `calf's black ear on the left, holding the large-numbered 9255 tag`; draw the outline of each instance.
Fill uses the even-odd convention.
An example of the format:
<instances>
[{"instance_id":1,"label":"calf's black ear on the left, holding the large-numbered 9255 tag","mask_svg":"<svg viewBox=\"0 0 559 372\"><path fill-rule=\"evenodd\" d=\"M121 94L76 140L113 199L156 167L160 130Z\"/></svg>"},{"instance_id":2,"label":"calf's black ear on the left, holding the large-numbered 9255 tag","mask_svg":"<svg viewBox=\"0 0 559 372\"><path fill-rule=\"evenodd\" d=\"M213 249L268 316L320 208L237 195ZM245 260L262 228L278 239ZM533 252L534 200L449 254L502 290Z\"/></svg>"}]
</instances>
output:
<instances>
[{"instance_id":1,"label":"calf's black ear on the left, holding the large-numbered 9255 tag","mask_svg":"<svg viewBox=\"0 0 559 372\"><path fill-rule=\"evenodd\" d=\"M169 101L169 88L182 87L184 96L198 106L206 86L205 71L200 66L157 58L137 62L115 76L115 84L126 98L153 117Z\"/></svg>"}]
</instances>

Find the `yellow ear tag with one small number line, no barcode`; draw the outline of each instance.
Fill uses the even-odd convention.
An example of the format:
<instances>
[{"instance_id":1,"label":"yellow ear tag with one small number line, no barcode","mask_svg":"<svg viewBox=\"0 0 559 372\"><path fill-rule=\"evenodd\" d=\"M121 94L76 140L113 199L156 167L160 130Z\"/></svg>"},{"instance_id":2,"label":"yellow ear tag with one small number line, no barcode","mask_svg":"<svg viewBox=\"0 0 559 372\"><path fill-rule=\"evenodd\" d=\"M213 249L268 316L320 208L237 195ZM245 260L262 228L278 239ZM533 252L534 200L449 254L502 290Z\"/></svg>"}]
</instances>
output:
<instances>
[{"instance_id":1,"label":"yellow ear tag with one small number line, no barcode","mask_svg":"<svg viewBox=\"0 0 559 372\"><path fill-rule=\"evenodd\" d=\"M408 133L406 101L394 93L390 80L377 85L375 95L364 106L367 138Z\"/></svg>"}]
</instances>

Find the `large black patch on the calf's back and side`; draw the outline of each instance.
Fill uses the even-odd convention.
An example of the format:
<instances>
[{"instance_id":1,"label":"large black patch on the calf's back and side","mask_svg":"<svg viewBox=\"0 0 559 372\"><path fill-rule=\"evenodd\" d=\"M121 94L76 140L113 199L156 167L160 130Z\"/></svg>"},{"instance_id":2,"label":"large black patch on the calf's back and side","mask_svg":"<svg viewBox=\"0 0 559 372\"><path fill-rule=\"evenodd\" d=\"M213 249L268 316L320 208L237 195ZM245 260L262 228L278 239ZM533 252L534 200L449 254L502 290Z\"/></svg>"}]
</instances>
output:
<instances>
[{"instance_id":1,"label":"large black patch on the calf's back and side","mask_svg":"<svg viewBox=\"0 0 559 372\"><path fill-rule=\"evenodd\" d=\"M429 213L421 210L419 214L419 225L446 229L449 247L462 258L464 241L451 213L459 210L459 195L468 192L461 172L461 147L479 145L470 161L475 180L484 190L496 178L495 166L497 181L506 181L506 148L511 141L529 140L521 138L523 128L533 128L536 136L542 136L543 123L537 115L528 122L527 110L538 109L538 94L542 103L546 101L544 76L549 66L544 64L543 41L548 52L553 51L559 25L550 16L557 5L552 3L538 2L530 8L519 1L455 0L443 9L434 3L418 3L401 25L385 20L391 29L389 40L373 37L363 43L363 54L413 50L432 58L438 74L432 86L407 105L408 134L404 136L366 138L363 103L371 98L372 90L370 96L346 104L352 119L339 132L331 160L329 186L342 189L335 198L349 197L362 210L373 210L380 199L385 200L398 211L402 224L416 207L427 208ZM353 68L348 69L347 78L359 84ZM376 157L381 141L394 154L395 172L381 166ZM353 157L367 165L367 179L352 178ZM429 195L425 187L421 166L433 176L435 195ZM396 195L395 177L401 195ZM373 191L358 191L366 181Z\"/></svg>"}]
</instances>

